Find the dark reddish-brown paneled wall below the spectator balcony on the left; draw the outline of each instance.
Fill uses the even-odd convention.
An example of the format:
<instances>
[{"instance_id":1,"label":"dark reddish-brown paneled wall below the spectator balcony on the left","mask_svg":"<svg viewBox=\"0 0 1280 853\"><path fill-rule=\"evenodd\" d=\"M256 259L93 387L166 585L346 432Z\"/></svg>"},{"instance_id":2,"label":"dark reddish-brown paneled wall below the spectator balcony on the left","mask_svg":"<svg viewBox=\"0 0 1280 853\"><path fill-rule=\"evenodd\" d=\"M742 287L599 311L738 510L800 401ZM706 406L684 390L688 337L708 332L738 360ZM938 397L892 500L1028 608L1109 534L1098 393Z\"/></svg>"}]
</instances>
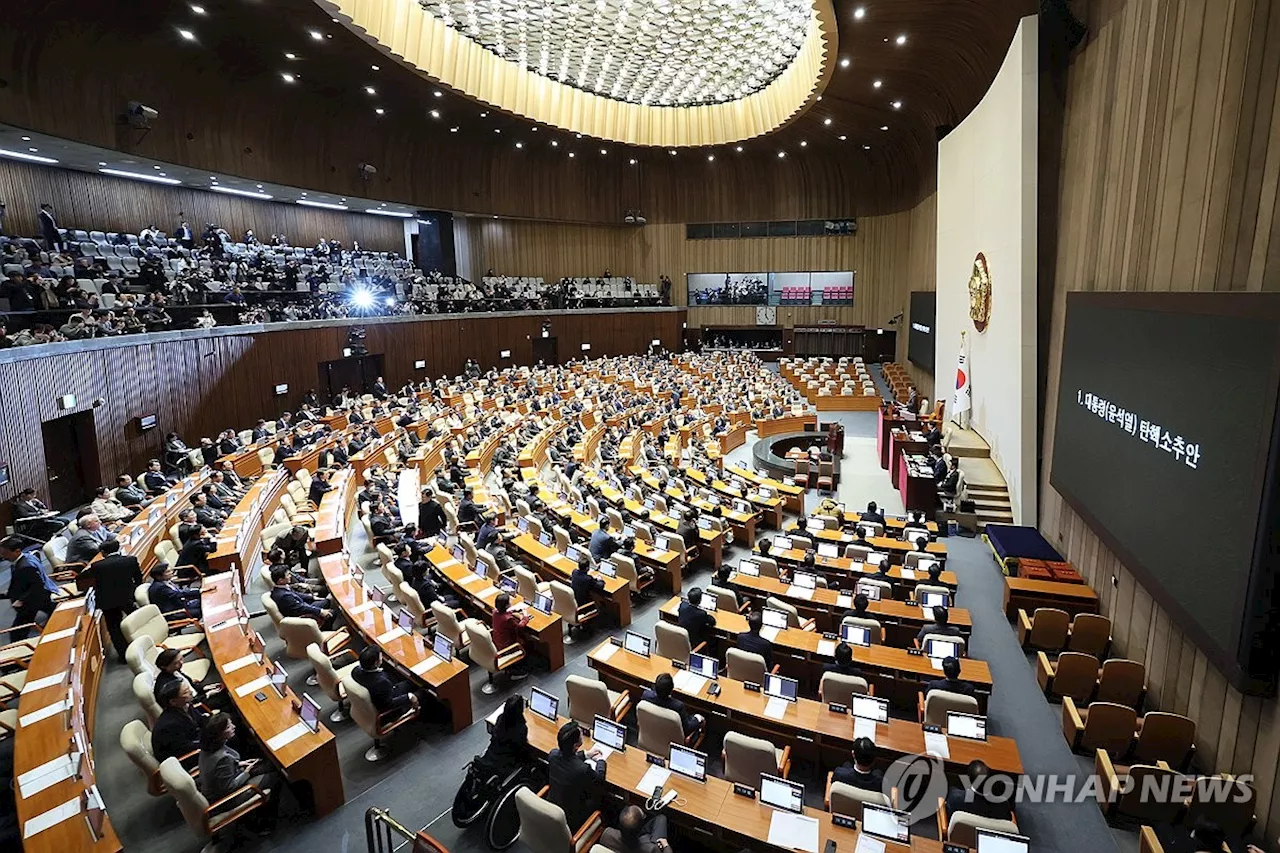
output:
<instances>
[{"instance_id":1,"label":"dark reddish-brown paneled wall below the spectator balcony on the left","mask_svg":"<svg viewBox=\"0 0 1280 853\"><path fill-rule=\"evenodd\" d=\"M81 352L47 355L8 350L0 360L0 465L9 466L10 487L0 493L0 514L19 489L31 487L47 500L41 423L77 411L92 411L104 482L119 473L138 474L159 456L164 434L177 432L195 444L227 428L243 429L257 418L297 409L308 388L319 388L324 361L342 359L352 327L366 329L370 353L383 353L387 384L457 375L467 359L483 368L532 362L531 337L544 315L488 315L413 321L351 321L319 328L188 333L166 341L122 338ZM653 339L667 350L681 347L684 311L618 311L552 315L562 361L645 352ZM511 350L507 361L500 350ZM415 369L419 360L425 369ZM275 396L275 386L289 391ZM58 400L76 394L63 411ZM93 401L101 400L95 406ZM141 433L136 419L159 415L156 429ZM59 507L69 508L69 507ZM0 517L0 523L6 519Z\"/></svg>"}]
</instances>

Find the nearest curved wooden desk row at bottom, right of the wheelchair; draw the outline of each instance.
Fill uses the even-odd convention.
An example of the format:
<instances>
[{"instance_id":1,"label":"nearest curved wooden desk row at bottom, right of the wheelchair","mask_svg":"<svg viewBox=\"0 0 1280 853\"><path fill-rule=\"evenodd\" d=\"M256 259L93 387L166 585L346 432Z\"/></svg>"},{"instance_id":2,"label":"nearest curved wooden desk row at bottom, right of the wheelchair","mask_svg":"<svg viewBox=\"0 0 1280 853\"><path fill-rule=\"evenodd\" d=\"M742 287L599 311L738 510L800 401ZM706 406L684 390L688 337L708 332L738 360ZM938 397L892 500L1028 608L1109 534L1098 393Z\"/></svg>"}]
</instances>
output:
<instances>
[{"instance_id":1,"label":"nearest curved wooden desk row at bottom, right of the wheelchair","mask_svg":"<svg viewBox=\"0 0 1280 853\"><path fill-rule=\"evenodd\" d=\"M556 733L570 721L568 717L558 717L552 722L527 708L525 719L529 721L529 745L541 756L556 748ZM590 749L593 745L590 738L586 738L584 747ZM625 752L609 756L608 767L604 784L609 792L628 803L644 807L644 800L653 793L636 789L650 767L645 752L628 745ZM673 772L664 786L680 794L678 799L667 806L664 813L690 830L695 838L705 839L708 847L790 850L768 843L773 809L755 799L733 794L731 783L717 776L708 776L705 781L699 783ZM828 840L836 841L837 850L852 850L858 847L859 833L836 826L831 822L828 812L805 807L804 813L818 821L818 850L824 850ZM886 850L941 853L942 844L925 838L913 838L910 847L888 844Z\"/></svg>"}]
</instances>

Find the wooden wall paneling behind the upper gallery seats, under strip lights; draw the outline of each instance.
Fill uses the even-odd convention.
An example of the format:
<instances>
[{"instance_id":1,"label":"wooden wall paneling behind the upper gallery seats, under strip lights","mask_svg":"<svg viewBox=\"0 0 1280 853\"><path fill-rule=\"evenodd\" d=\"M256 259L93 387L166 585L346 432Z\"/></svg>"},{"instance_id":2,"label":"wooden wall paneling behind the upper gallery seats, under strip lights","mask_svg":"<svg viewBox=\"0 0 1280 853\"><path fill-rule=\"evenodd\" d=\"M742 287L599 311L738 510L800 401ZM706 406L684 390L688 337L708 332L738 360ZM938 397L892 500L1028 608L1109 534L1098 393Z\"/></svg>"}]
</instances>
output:
<instances>
[{"instance_id":1,"label":"wooden wall paneling behind the upper gallery seats, under strip lights","mask_svg":"<svg viewBox=\"0 0 1280 853\"><path fill-rule=\"evenodd\" d=\"M362 248L404 254L404 229L399 219L389 216L259 201L15 160L0 160L0 199L8 205L5 228L12 234L38 234L40 205L49 202L64 228L136 234L154 224L172 234L183 213L197 237L205 223L212 222L236 240L252 228L264 243L280 233L294 246L315 246L328 238L346 247L358 241Z\"/></svg>"}]
</instances>

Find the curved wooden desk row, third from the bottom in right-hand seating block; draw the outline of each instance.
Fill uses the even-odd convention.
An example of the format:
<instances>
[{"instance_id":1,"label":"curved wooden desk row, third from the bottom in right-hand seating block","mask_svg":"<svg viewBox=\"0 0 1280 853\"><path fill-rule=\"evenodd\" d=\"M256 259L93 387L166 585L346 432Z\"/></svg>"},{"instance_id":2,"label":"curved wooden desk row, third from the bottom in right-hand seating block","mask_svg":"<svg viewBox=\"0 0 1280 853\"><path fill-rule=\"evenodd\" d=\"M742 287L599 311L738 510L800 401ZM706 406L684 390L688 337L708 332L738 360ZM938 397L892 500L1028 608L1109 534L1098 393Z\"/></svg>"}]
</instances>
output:
<instances>
[{"instance_id":1,"label":"curved wooden desk row, third from the bottom in right-hand seating block","mask_svg":"<svg viewBox=\"0 0 1280 853\"><path fill-rule=\"evenodd\" d=\"M680 598L672 598L662 606L660 617L668 622L676 621ZM746 630L746 617L727 611L716 612L716 635L736 642L739 634ZM819 651L822 644L823 651ZM778 631L773 640L773 662L781 663L781 672L800 681L805 695L818 695L818 683L822 680L822 667L835 660L836 643L823 639L817 631L803 631L788 628ZM854 662L867 670L870 681L877 684L876 695L896 701L899 707L915 708L915 694L923 681L942 678L933 669L933 662L923 654L911 654L905 648L892 646L854 647ZM972 657L960 660L960 678L974 685L978 703L986 707L991 697L991 667L986 661Z\"/></svg>"}]
</instances>

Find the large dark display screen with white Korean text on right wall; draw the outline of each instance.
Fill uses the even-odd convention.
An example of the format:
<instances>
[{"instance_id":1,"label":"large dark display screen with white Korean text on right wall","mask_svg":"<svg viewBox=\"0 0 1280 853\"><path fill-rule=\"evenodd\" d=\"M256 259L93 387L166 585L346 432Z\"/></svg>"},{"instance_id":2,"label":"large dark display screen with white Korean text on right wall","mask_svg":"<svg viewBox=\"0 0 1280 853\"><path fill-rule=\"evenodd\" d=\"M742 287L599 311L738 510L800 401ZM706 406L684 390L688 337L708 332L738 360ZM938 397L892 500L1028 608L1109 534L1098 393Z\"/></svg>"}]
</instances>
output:
<instances>
[{"instance_id":1,"label":"large dark display screen with white Korean text on right wall","mask_svg":"<svg viewBox=\"0 0 1280 853\"><path fill-rule=\"evenodd\" d=\"M1050 475L1220 665L1270 534L1280 324L1248 301L1070 295Z\"/></svg>"}]
</instances>

